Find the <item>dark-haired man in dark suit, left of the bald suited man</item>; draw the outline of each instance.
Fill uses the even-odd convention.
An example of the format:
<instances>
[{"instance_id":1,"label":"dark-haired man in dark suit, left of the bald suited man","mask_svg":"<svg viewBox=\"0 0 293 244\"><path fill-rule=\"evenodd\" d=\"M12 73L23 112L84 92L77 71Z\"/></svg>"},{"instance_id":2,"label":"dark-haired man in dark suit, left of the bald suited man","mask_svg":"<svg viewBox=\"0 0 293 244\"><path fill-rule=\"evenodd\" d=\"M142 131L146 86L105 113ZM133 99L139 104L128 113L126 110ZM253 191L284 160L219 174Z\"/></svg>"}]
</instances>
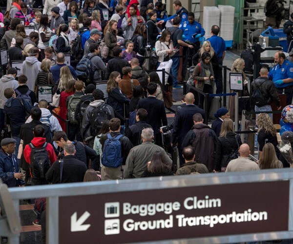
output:
<instances>
[{"instance_id":1,"label":"dark-haired man in dark suit, left of the bald suited man","mask_svg":"<svg viewBox=\"0 0 293 244\"><path fill-rule=\"evenodd\" d=\"M164 102L156 99L157 84L149 82L146 86L149 96L140 99L137 109L144 108L147 111L146 123L150 124L154 130L156 144L162 146L162 137L160 135L160 127L167 125L167 117Z\"/></svg>"}]
</instances>

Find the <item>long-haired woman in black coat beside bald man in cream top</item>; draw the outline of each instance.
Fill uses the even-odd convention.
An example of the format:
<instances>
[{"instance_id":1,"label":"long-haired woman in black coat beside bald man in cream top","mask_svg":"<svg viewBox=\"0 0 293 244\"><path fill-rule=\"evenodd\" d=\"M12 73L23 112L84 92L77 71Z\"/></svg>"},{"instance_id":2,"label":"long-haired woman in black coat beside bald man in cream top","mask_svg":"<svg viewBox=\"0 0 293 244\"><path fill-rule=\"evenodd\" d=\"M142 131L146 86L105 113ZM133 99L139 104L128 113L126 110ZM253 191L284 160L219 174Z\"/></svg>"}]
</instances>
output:
<instances>
[{"instance_id":1,"label":"long-haired woman in black coat beside bald man in cream top","mask_svg":"<svg viewBox=\"0 0 293 244\"><path fill-rule=\"evenodd\" d=\"M237 158L236 154L242 144L240 136L236 135L233 129L233 121L226 118L223 121L219 142L216 146L216 169L218 172L225 172L228 163ZM236 156L236 157L232 157Z\"/></svg>"}]
</instances>

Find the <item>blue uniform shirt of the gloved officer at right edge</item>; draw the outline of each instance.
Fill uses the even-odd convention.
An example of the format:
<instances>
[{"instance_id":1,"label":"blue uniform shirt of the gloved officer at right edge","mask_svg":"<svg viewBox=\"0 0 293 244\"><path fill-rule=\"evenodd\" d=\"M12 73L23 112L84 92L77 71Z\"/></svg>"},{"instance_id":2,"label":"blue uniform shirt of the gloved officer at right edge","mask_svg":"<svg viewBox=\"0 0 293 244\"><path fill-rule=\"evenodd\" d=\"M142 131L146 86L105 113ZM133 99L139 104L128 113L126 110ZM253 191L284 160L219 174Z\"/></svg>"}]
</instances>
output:
<instances>
[{"instance_id":1,"label":"blue uniform shirt of the gloved officer at right edge","mask_svg":"<svg viewBox=\"0 0 293 244\"><path fill-rule=\"evenodd\" d=\"M293 79L293 63L285 60L282 65L275 65L269 72L269 78L272 81L284 80L288 78Z\"/></svg>"}]
</instances>

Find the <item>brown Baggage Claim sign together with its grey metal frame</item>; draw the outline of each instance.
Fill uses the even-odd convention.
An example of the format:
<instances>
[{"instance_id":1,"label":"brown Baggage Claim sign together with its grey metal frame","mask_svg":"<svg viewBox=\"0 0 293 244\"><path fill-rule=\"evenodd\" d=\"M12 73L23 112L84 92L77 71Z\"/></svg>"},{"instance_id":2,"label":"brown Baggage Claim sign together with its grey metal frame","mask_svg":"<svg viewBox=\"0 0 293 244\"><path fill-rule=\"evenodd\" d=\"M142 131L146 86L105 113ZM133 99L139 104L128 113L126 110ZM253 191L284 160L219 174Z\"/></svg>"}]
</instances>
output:
<instances>
[{"instance_id":1,"label":"brown Baggage Claim sign together with its grey metal frame","mask_svg":"<svg viewBox=\"0 0 293 244\"><path fill-rule=\"evenodd\" d=\"M17 208L20 199L47 197L49 244L239 243L293 238L292 187L292 169L280 169L9 192ZM17 235L10 243L19 243Z\"/></svg>"}]
</instances>

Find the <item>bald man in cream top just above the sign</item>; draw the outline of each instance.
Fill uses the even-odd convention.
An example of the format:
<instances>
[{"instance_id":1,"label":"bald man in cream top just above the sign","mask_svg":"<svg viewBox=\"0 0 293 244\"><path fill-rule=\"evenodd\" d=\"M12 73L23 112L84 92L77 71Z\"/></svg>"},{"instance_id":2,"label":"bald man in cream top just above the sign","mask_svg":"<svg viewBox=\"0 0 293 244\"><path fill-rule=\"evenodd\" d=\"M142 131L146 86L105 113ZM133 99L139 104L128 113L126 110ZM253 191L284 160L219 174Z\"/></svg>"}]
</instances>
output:
<instances>
[{"instance_id":1,"label":"bald man in cream top just above the sign","mask_svg":"<svg viewBox=\"0 0 293 244\"><path fill-rule=\"evenodd\" d=\"M257 163L249 159L250 148L248 144L242 144L238 152L240 157L238 157L238 159L233 159L228 163L226 172L260 170Z\"/></svg>"}]
</instances>

